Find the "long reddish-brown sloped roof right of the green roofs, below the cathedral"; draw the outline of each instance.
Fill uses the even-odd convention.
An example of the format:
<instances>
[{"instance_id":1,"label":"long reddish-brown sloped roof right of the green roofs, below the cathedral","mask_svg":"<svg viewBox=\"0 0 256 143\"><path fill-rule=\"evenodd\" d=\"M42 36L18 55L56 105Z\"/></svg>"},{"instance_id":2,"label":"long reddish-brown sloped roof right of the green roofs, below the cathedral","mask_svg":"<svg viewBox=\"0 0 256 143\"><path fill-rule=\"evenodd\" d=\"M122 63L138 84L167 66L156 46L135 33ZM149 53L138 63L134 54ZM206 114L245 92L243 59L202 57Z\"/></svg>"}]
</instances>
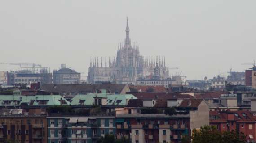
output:
<instances>
[{"instance_id":1,"label":"long reddish-brown sloped roof right of the green roofs, below the cathedral","mask_svg":"<svg viewBox=\"0 0 256 143\"><path fill-rule=\"evenodd\" d=\"M138 99L194 99L193 96L180 93L132 93Z\"/></svg>"}]
</instances>

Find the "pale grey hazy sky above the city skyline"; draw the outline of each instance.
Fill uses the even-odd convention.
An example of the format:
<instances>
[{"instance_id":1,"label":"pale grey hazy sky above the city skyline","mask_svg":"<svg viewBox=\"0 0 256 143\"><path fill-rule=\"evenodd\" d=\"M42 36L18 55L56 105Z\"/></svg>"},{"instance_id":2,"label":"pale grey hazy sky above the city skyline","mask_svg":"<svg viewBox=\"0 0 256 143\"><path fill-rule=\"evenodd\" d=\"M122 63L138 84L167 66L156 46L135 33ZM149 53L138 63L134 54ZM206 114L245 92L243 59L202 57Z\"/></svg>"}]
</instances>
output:
<instances>
[{"instance_id":1,"label":"pale grey hazy sky above the city skyline","mask_svg":"<svg viewBox=\"0 0 256 143\"><path fill-rule=\"evenodd\" d=\"M0 63L66 63L87 75L91 56L116 56L130 37L188 79L244 71L256 59L256 0L1 0ZM0 71L19 66L0 65Z\"/></svg>"}]
</instances>

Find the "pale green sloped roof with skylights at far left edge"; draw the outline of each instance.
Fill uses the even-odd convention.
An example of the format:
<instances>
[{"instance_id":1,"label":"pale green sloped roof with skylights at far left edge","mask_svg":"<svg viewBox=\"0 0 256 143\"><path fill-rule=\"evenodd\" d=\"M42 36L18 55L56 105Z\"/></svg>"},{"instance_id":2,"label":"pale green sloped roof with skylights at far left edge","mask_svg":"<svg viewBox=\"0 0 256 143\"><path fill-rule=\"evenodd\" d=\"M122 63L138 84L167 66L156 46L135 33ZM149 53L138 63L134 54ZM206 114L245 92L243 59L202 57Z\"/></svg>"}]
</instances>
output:
<instances>
[{"instance_id":1,"label":"pale green sloped roof with skylights at far left edge","mask_svg":"<svg viewBox=\"0 0 256 143\"><path fill-rule=\"evenodd\" d=\"M35 95L35 96L23 96L23 95L0 95L0 106L13 106L15 103L13 101L18 101L18 105L22 103L27 103L30 106L53 106L53 105L69 105L69 101L60 95ZM4 101L11 101L9 105L5 105ZM40 104L40 101L45 101L46 104Z\"/></svg>"}]
</instances>

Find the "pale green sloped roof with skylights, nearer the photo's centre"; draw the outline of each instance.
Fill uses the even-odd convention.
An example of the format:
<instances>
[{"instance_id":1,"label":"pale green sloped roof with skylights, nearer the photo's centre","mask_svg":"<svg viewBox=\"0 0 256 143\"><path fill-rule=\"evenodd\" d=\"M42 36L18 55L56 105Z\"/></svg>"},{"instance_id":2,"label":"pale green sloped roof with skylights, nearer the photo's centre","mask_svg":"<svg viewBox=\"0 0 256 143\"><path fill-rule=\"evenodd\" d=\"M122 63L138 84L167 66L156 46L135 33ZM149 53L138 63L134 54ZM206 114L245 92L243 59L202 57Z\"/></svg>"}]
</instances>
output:
<instances>
[{"instance_id":1,"label":"pale green sloped roof with skylights, nearer the photo's centre","mask_svg":"<svg viewBox=\"0 0 256 143\"><path fill-rule=\"evenodd\" d=\"M94 97L107 98L107 105L127 105L126 101L130 99L137 99L132 94L106 94L106 93L89 93L86 95L76 95L71 99L71 105L85 105L92 106L94 103ZM80 104L80 101L84 101Z\"/></svg>"}]
</instances>

